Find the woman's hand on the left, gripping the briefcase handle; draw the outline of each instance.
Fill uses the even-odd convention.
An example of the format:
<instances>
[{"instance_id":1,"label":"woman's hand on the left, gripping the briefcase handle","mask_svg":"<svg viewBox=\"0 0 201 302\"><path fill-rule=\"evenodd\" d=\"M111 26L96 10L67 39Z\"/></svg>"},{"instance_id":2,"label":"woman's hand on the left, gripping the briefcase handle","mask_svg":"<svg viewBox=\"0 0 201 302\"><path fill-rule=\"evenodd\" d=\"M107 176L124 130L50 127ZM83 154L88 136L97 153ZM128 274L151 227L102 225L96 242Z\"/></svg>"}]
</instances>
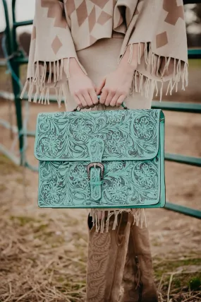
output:
<instances>
[{"instance_id":1,"label":"woman's hand on the left, gripping the briefcase handle","mask_svg":"<svg viewBox=\"0 0 201 302\"><path fill-rule=\"evenodd\" d=\"M78 62L70 59L70 77L68 79L71 95L80 108L94 107L99 103L95 92L95 84L83 72Z\"/></svg>"}]
</instances>

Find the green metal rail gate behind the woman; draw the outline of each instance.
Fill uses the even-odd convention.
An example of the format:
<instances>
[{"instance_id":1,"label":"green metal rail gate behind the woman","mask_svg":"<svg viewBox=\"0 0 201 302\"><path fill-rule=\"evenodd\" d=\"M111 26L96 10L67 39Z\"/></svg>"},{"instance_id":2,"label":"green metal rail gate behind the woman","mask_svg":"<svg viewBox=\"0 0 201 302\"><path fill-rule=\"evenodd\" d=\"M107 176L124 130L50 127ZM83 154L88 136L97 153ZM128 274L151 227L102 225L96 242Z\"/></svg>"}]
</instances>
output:
<instances>
[{"instance_id":1,"label":"green metal rail gate behind the woman","mask_svg":"<svg viewBox=\"0 0 201 302\"><path fill-rule=\"evenodd\" d=\"M32 20L16 22L16 0L12 0L11 3L8 3L6 0L2 0L4 5L4 13L6 18L6 30L5 30L5 53L6 59L3 64L8 66L12 75L12 86L13 86L13 95L14 102L16 105L16 117L17 117L17 126L18 126L18 140L19 140L19 149L20 149L20 161L18 158L15 158L4 146L0 146L0 151L5 153L11 158L11 160L24 165L31 170L36 170L37 168L32 167L24 159L24 135L28 137L35 137L35 132L25 132L23 129L23 115L22 115L22 101L20 100L20 65L28 64L28 58L24 56L23 52L20 50L17 39L16 39L16 29L19 26L31 25ZM201 3L201 0L184 0L184 4L195 4ZM200 50L188 50L189 59L201 59L201 49ZM28 97L23 98L23 100L28 100ZM50 98L51 102L56 102L54 97ZM162 110L171 110L178 112L193 112L201 113L201 104L197 103L177 103L177 102L165 102L159 103L158 101L152 102L152 108L161 108ZM6 122L5 122L6 124ZM166 161L174 161L176 163L185 163L187 165L201 166L201 158L195 158L191 156L183 156L180 154L165 153ZM190 209L188 207L183 207L178 204L173 204L171 202L166 202L166 209L172 211L178 211L182 214L193 216L198 219L201 219L201 211Z\"/></svg>"}]
</instances>

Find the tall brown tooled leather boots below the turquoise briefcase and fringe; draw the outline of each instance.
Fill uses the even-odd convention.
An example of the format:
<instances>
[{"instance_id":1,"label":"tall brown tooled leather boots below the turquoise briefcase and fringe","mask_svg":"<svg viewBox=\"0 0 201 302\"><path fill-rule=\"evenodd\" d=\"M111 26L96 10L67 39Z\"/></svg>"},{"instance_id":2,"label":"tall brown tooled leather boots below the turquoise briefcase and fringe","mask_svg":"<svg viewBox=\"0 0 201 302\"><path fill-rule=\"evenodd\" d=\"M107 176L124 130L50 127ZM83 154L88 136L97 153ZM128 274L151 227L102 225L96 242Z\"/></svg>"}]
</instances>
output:
<instances>
[{"instance_id":1,"label":"tall brown tooled leather boots below the turquoise briefcase and fringe","mask_svg":"<svg viewBox=\"0 0 201 302\"><path fill-rule=\"evenodd\" d=\"M118 226L97 233L88 216L86 302L157 302L147 227L133 225L123 211ZM122 292L123 290L123 292Z\"/></svg>"}]
</instances>

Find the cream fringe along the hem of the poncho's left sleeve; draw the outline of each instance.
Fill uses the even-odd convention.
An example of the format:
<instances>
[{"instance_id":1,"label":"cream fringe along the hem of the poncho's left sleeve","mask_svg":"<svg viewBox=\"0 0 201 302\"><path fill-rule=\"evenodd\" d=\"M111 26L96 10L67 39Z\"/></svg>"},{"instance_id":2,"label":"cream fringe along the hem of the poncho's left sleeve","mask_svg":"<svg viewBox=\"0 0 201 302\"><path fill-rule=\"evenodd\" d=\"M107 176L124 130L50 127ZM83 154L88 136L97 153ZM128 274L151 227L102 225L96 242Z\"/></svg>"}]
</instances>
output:
<instances>
[{"instance_id":1,"label":"cream fringe along the hem of the poncho's left sleeve","mask_svg":"<svg viewBox=\"0 0 201 302\"><path fill-rule=\"evenodd\" d=\"M80 65L80 68L87 75L84 67L78 59L75 57L76 61ZM53 65L53 66L52 66ZM55 88L56 100L61 107L61 101L63 100L67 110L67 89L68 89L68 79L70 78L70 57L67 58L64 66L63 59L59 59L55 62L44 62L42 68L39 68L39 61L35 62L32 66L32 77L28 78L25 82L25 86L20 95L20 98L23 98L25 91L29 85L28 89L28 101L33 103L49 104L49 89ZM49 77L47 79L47 66L49 66ZM66 81L63 81L56 86L58 81L63 80L63 71L66 74ZM52 81L53 79L53 81ZM34 95L33 95L34 93Z\"/></svg>"}]
</instances>

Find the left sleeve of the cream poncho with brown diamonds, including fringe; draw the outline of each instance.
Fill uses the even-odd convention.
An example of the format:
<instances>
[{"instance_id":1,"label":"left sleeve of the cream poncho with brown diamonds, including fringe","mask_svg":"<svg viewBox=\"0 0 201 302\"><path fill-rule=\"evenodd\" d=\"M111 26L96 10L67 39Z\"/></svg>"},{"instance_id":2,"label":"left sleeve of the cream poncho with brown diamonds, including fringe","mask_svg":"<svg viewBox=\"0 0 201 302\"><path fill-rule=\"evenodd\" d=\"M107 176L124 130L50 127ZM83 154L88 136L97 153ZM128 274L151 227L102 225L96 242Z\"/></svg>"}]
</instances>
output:
<instances>
[{"instance_id":1,"label":"left sleeve of the cream poncho with brown diamonds, including fringe","mask_svg":"<svg viewBox=\"0 0 201 302\"><path fill-rule=\"evenodd\" d=\"M62 99L66 104L71 57L80 64L63 0L36 0L27 81L21 98L29 85L29 101L49 103L49 88L55 88L59 105ZM80 67L87 74L81 64Z\"/></svg>"}]
</instances>

